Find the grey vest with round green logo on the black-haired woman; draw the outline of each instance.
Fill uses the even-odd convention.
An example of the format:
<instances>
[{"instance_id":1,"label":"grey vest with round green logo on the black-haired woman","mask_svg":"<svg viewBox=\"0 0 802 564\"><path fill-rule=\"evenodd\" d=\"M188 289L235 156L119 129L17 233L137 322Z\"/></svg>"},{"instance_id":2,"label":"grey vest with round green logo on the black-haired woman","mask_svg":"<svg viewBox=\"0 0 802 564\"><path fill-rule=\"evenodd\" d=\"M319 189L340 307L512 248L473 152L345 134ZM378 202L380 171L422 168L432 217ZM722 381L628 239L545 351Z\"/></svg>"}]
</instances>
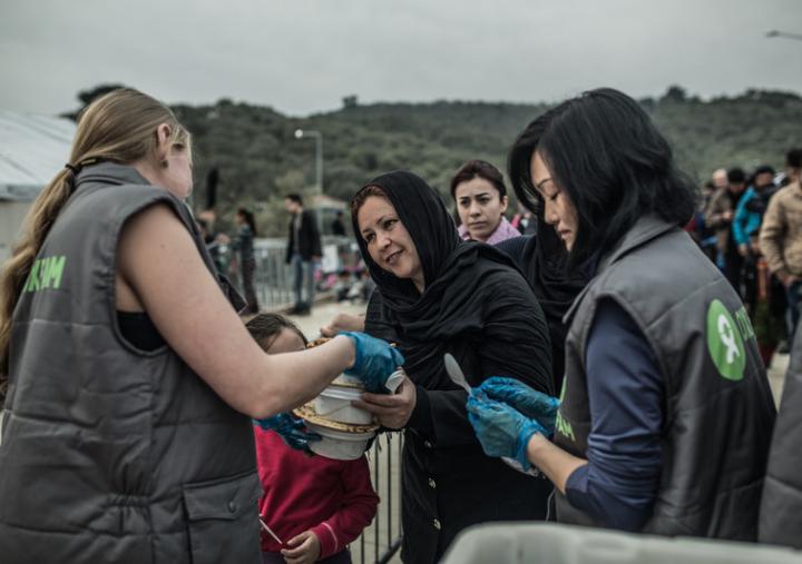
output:
<instances>
[{"instance_id":1,"label":"grey vest with round green logo on the black-haired woman","mask_svg":"<svg viewBox=\"0 0 802 564\"><path fill-rule=\"evenodd\" d=\"M754 541L775 409L741 299L687 234L639 220L566 316L555 443L580 457L591 424L586 348L602 299L632 316L663 375L663 469L644 532ZM559 522L600 526L559 492L556 501Z\"/></svg>"}]
</instances>

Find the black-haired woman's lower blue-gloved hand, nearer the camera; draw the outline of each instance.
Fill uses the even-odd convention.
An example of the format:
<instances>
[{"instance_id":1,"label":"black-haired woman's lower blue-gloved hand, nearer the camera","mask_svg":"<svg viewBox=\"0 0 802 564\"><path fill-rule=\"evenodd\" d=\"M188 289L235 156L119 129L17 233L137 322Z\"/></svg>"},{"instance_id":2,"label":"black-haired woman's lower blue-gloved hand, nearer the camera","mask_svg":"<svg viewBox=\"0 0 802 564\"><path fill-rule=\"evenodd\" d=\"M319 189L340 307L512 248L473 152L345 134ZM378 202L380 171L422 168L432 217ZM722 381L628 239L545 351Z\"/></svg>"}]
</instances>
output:
<instances>
[{"instance_id":1,"label":"black-haired woman's lower blue-gloved hand, nearer the camera","mask_svg":"<svg viewBox=\"0 0 802 564\"><path fill-rule=\"evenodd\" d=\"M535 433L546 435L542 425L507 404L477 394L468 396L466 408L485 454L515 458L525 472L531 468L527 446Z\"/></svg>"}]
</instances>

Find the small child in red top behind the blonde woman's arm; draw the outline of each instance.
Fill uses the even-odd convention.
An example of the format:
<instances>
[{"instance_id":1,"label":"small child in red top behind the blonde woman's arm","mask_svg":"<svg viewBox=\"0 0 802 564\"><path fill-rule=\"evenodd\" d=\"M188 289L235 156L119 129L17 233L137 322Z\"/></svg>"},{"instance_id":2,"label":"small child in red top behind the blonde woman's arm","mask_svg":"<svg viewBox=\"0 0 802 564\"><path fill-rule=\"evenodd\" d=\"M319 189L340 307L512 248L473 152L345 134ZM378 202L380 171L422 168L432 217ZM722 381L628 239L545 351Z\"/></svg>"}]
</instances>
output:
<instances>
[{"instance_id":1,"label":"small child in red top behind the blonde woman's arm","mask_svg":"<svg viewBox=\"0 0 802 564\"><path fill-rule=\"evenodd\" d=\"M303 333L276 314L260 314L246 327L270 354L306 346ZM273 431L254 426L254 434L265 491L260 499L260 515L283 543L263 527L263 562L351 564L348 545L370 525L379 504L368 459L310 456L287 446Z\"/></svg>"}]
</instances>

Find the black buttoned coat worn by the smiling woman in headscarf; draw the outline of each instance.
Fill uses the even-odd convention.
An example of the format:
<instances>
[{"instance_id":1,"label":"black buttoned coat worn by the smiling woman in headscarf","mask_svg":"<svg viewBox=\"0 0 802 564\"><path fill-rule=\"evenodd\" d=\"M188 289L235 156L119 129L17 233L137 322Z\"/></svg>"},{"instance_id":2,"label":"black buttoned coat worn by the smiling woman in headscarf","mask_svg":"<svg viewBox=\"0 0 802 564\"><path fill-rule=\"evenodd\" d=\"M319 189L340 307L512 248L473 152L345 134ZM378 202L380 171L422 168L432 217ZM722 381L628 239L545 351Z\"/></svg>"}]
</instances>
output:
<instances>
[{"instance_id":1,"label":"black buttoned coat worn by the smiling woman in headscarf","mask_svg":"<svg viewBox=\"0 0 802 564\"><path fill-rule=\"evenodd\" d=\"M512 273L510 273L512 274ZM526 283L510 276L507 295L530 296ZM510 376L542 392L535 375L550 370L550 345L546 323L534 297L528 311L506 307L496 300L486 309L481 330L453 335L442 345L457 358L471 386L490 376ZM372 311L381 300L374 294L368 309L365 330L399 343L399 335L387 325L373 326ZM509 342L509 329L518 335ZM404 347L402 347L403 350ZM515 358L514 358L515 357ZM521 370L528 358L529 370ZM417 405L404 429L402 458L401 557L405 563L438 562L457 534L489 521L532 521L546 518L550 482L521 474L481 449L467 418L464 390L446 376L442 357L437 360L442 378L415 382Z\"/></svg>"}]
</instances>

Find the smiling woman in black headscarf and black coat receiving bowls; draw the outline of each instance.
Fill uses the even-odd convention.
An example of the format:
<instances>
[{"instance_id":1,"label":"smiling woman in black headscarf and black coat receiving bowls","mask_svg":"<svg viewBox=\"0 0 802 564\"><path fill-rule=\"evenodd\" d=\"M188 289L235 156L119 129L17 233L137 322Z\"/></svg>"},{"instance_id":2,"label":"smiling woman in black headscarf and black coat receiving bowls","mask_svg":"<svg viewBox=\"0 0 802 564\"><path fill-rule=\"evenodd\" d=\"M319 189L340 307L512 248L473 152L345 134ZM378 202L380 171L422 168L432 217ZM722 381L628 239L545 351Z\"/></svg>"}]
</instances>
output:
<instances>
[{"instance_id":1,"label":"smiling woman in black headscarf and black coat receiving bowls","mask_svg":"<svg viewBox=\"0 0 802 564\"><path fill-rule=\"evenodd\" d=\"M552 390L542 310L511 260L461 241L437 194L395 171L352 201L354 232L376 290L365 332L397 343L409 378L392 396L359 403L404 428L402 558L437 562L457 533L487 521L538 520L551 486L487 457L446 373L451 353L472 386L495 375Z\"/></svg>"}]
</instances>

